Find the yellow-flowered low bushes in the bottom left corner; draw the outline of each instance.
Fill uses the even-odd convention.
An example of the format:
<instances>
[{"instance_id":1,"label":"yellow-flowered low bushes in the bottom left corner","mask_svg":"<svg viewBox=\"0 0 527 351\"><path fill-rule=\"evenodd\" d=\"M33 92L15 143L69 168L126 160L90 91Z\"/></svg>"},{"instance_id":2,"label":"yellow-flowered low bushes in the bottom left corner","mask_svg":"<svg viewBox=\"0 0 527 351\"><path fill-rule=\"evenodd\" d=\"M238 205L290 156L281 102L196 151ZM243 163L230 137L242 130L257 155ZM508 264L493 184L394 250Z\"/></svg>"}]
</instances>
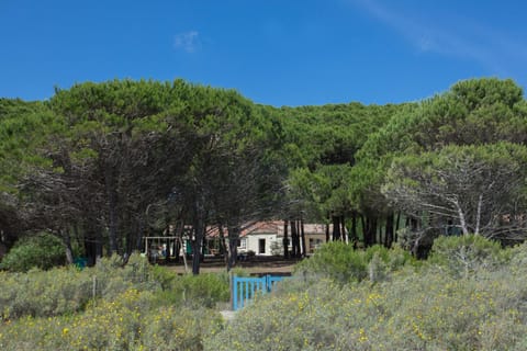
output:
<instances>
[{"instance_id":1,"label":"yellow-flowered low bushes in the bottom left corner","mask_svg":"<svg viewBox=\"0 0 527 351\"><path fill-rule=\"evenodd\" d=\"M0 326L1 350L202 350L221 316L204 308L153 307L150 292L128 290L82 314L25 317Z\"/></svg>"}]
</instances>

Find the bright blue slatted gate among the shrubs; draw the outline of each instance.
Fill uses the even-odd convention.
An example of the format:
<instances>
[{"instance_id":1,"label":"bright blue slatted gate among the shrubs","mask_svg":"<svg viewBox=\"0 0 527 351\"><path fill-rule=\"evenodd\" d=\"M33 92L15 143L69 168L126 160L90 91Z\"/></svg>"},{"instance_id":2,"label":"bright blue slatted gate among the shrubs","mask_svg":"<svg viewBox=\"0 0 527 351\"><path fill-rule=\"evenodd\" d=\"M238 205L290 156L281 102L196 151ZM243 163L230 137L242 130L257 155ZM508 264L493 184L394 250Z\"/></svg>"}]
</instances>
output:
<instances>
[{"instance_id":1,"label":"bright blue slatted gate among the shrubs","mask_svg":"<svg viewBox=\"0 0 527 351\"><path fill-rule=\"evenodd\" d=\"M271 292L273 285L283 276L266 275L262 278L233 276L233 310L246 306L257 294Z\"/></svg>"}]
</instances>

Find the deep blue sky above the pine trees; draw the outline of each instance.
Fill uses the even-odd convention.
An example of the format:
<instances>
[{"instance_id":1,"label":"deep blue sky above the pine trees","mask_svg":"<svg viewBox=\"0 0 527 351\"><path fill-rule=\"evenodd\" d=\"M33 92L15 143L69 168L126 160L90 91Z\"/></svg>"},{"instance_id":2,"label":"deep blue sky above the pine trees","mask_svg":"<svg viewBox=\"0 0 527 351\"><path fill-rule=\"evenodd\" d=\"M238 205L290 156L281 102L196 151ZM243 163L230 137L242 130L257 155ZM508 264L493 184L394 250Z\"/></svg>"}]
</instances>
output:
<instances>
[{"instance_id":1,"label":"deep blue sky above the pine trees","mask_svg":"<svg viewBox=\"0 0 527 351\"><path fill-rule=\"evenodd\" d=\"M0 97L184 80L264 104L397 103L475 77L527 87L522 0L0 0Z\"/></svg>"}]
</instances>

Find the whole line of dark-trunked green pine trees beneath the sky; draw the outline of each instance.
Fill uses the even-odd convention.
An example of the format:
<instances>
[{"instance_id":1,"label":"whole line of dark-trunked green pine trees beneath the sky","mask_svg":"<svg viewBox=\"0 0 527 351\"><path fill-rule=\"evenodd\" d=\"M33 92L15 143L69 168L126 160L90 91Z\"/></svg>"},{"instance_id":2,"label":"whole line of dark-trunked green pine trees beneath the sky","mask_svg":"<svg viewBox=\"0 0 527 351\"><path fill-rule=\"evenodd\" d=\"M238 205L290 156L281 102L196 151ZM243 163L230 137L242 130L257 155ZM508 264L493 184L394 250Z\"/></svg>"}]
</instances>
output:
<instances>
[{"instance_id":1,"label":"whole line of dark-trunked green pine trees beneath the sky","mask_svg":"<svg viewBox=\"0 0 527 351\"><path fill-rule=\"evenodd\" d=\"M455 84L399 105L281 107L181 80L115 80L0 100L0 233L59 237L72 260L187 235L199 273L206 228L236 258L242 226L333 223L355 246L439 234L523 240L527 105L511 80ZM231 245L231 250L225 248ZM285 246L287 247L287 246ZM177 248L179 250L179 248ZM289 252L285 249L284 254Z\"/></svg>"}]
</instances>

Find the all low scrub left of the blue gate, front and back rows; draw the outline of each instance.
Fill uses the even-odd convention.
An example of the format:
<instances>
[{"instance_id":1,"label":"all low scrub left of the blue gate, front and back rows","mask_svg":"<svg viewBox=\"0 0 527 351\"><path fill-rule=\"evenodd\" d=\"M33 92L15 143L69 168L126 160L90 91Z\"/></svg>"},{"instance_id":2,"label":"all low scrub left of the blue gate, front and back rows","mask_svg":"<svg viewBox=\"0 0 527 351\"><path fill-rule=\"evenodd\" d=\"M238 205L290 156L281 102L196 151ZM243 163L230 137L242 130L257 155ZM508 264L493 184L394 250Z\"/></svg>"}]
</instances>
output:
<instances>
[{"instance_id":1,"label":"all low scrub left of the blue gate, front and back rows","mask_svg":"<svg viewBox=\"0 0 527 351\"><path fill-rule=\"evenodd\" d=\"M0 280L0 350L202 350L223 320L205 306L228 301L227 275L178 276L137 254Z\"/></svg>"}]
</instances>

